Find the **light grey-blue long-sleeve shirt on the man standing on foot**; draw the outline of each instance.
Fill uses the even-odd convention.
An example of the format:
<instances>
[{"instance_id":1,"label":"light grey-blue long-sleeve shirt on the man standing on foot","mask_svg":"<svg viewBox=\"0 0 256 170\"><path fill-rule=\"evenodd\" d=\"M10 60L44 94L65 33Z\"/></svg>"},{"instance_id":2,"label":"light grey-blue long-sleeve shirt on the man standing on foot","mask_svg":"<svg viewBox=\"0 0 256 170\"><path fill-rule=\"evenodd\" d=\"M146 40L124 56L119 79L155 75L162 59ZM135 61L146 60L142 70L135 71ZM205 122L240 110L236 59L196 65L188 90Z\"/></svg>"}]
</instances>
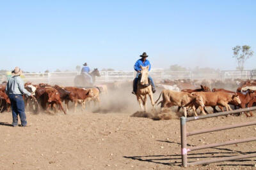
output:
<instances>
[{"instance_id":1,"label":"light grey-blue long-sleeve shirt on the man standing on foot","mask_svg":"<svg viewBox=\"0 0 256 170\"><path fill-rule=\"evenodd\" d=\"M22 81L20 76L12 76L7 82L5 91L7 95L26 94L27 96L31 96L31 93L24 88L24 82Z\"/></svg>"}]
</instances>

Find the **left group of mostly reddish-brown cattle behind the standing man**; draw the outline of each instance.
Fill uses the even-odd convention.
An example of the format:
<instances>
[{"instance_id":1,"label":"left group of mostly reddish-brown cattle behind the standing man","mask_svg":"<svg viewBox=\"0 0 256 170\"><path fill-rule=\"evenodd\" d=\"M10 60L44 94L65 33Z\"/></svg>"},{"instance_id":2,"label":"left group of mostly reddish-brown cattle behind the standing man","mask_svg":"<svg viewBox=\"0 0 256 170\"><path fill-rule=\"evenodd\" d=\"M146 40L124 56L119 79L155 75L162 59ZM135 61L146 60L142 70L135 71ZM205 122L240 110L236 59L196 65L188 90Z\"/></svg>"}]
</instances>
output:
<instances>
[{"instance_id":1,"label":"left group of mostly reddish-brown cattle behind the standing man","mask_svg":"<svg viewBox=\"0 0 256 170\"><path fill-rule=\"evenodd\" d=\"M47 83L32 84L27 82L24 85L25 89L31 92L33 97L23 96L25 106L29 110L33 110L38 113L39 108L45 111L61 110L67 114L69 101L74 102L74 112L76 112L77 104L82 104L82 108L85 108L86 101L94 101L99 103L99 93L106 92L104 85L93 88L79 88L79 87L60 87L58 85L48 85ZM5 93L6 82L0 85L0 111L10 111L10 99ZM63 108L65 103L66 108Z\"/></svg>"}]
</instances>

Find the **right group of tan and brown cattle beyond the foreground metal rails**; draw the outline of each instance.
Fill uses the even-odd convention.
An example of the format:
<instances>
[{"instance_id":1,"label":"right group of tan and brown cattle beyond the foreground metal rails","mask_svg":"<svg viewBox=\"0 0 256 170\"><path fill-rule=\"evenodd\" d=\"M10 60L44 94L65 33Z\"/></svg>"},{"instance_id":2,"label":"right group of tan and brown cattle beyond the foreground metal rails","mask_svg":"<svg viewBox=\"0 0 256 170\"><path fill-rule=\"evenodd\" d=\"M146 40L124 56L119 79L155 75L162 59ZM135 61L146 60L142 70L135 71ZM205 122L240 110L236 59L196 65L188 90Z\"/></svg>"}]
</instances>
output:
<instances>
[{"instance_id":1,"label":"right group of tan and brown cattle beyond the foreground metal rails","mask_svg":"<svg viewBox=\"0 0 256 170\"><path fill-rule=\"evenodd\" d=\"M188 82L189 81L189 82ZM210 106L213 109L213 112L216 113L218 110L216 107L220 108L221 111L225 111L224 107L228 110L232 110L230 105L234 106L234 108L246 108L252 107L253 104L256 104L256 81L255 80L235 80L232 85L237 84L236 92L226 90L223 88L212 88L212 90L205 86L200 85L200 89L182 89L179 91L180 85L184 87L191 87L191 81L170 81L165 80L161 87L164 89L171 90L163 90L159 96L163 95L163 100L160 101L161 108L171 107L171 106L179 106L178 112L180 108L184 110L184 116L187 116L187 109L193 108L195 116L197 116L196 109L200 108L200 112L206 115L205 106ZM230 80L229 80L230 81ZM201 82L202 83L202 82ZM207 83L207 82L204 82ZM223 82L219 81L221 85ZM226 82L226 84L228 81ZM218 87L217 82L213 81L213 83L209 83L212 87L216 85ZM232 86L231 85L231 86ZM223 85L225 86L225 84ZM213 86L214 87L214 86ZM159 100L157 99L157 101ZM157 103L156 101L156 103ZM158 104L159 104L158 103ZM249 113L245 113L246 117L252 117L252 111Z\"/></svg>"}]
</instances>

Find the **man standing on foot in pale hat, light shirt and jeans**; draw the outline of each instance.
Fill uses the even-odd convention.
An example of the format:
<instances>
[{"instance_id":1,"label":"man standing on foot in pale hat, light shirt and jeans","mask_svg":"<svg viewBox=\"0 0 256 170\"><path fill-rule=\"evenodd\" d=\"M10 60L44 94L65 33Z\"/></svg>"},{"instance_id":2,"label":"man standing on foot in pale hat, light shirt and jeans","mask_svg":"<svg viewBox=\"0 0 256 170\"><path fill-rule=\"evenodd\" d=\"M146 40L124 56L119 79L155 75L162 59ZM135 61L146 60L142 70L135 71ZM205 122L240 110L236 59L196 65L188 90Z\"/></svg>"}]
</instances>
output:
<instances>
[{"instance_id":1,"label":"man standing on foot in pale hat, light shirt and jeans","mask_svg":"<svg viewBox=\"0 0 256 170\"><path fill-rule=\"evenodd\" d=\"M19 67L15 67L12 71L12 77L7 82L6 85L6 94L10 98L12 106L12 125L13 127L18 125L18 115L20 116L21 126L27 126L26 114L25 114L25 105L22 95L26 94L27 96L32 96L28 90L24 88L24 82L20 78L22 71Z\"/></svg>"}]
</instances>

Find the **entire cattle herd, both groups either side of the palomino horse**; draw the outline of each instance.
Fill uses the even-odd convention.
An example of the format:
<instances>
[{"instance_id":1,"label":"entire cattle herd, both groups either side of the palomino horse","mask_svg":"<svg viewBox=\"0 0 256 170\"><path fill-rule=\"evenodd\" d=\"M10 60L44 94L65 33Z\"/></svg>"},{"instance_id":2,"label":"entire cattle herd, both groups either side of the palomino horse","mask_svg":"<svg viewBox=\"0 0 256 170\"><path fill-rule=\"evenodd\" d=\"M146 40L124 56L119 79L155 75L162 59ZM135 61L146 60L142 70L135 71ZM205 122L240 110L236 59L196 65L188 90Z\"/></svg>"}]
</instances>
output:
<instances>
[{"instance_id":1,"label":"entire cattle herd, both groups either side of the palomino horse","mask_svg":"<svg viewBox=\"0 0 256 170\"><path fill-rule=\"evenodd\" d=\"M232 81L232 83L230 83ZM130 84L131 82L129 82ZM227 84L230 83L226 90ZM120 84L120 82L116 83ZM69 102L74 103L74 112L77 110L77 104L81 104L84 110L85 104L94 102L100 103L100 93L108 93L109 83L92 88L81 87L60 87L59 85L49 85L47 83L34 84L25 83L25 88L33 94L34 97L24 96L26 108L38 113L39 110L45 110L52 113L58 110L67 113L70 109ZM6 82L0 84L0 111L10 111L10 99L5 93ZM196 110L206 114L209 111L205 107L211 107L213 112L232 110L233 108L246 108L256 104L256 81L255 80L227 80L227 81L196 81L196 80L163 80L157 82L157 87L163 89L156 103L161 104L161 109L178 106L187 116L189 108L197 116ZM196 87L200 87L196 89ZM211 87L211 88L210 88ZM115 85L115 88L122 89L122 85ZM211 90L212 89L212 90ZM132 94L131 94L132 95ZM163 96L163 99L159 99ZM159 103L158 103L159 101ZM65 107L63 106L65 104ZM246 113L247 117L253 116L252 113Z\"/></svg>"}]
</instances>

